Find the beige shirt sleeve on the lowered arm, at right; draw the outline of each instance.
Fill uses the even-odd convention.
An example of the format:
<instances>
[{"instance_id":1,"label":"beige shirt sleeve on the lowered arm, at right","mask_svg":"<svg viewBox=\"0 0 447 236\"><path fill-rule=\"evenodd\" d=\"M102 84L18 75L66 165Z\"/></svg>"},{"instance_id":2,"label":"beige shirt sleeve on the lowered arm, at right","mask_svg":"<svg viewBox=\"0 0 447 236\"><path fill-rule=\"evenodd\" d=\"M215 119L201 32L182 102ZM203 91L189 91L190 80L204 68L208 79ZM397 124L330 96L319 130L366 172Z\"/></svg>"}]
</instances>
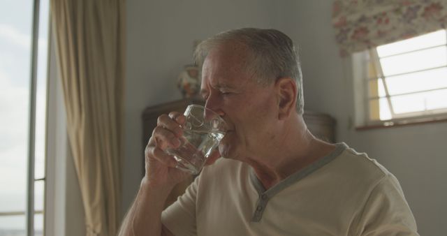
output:
<instances>
[{"instance_id":1,"label":"beige shirt sleeve on the lowered arm, at right","mask_svg":"<svg viewBox=\"0 0 447 236\"><path fill-rule=\"evenodd\" d=\"M353 235L418 235L416 221L397 179L388 174L372 189Z\"/></svg>"}]
</instances>

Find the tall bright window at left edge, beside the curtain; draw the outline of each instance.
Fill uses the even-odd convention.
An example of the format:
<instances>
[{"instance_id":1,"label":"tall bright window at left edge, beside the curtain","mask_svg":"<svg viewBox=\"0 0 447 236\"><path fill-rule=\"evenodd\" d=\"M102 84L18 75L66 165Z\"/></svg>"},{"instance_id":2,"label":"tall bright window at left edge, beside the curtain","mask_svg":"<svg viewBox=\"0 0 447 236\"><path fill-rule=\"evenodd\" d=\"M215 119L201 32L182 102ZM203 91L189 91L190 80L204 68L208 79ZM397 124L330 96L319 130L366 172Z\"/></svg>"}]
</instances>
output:
<instances>
[{"instance_id":1,"label":"tall bright window at left edge, beside the curtain","mask_svg":"<svg viewBox=\"0 0 447 236\"><path fill-rule=\"evenodd\" d=\"M49 7L0 3L0 235L43 235Z\"/></svg>"}]
</instances>

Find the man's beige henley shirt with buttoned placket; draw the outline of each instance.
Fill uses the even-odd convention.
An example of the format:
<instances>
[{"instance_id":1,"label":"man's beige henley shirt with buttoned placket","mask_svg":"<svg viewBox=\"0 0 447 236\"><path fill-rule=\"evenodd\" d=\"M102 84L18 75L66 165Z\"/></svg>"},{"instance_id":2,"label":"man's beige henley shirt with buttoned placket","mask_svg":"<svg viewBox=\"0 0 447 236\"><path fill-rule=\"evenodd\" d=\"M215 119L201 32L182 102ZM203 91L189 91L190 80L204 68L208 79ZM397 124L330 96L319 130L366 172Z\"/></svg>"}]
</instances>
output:
<instances>
[{"instance_id":1,"label":"man's beige henley shirt with buttoned placket","mask_svg":"<svg viewBox=\"0 0 447 236\"><path fill-rule=\"evenodd\" d=\"M397 179L344 143L265 191L221 158L162 214L174 235L418 235Z\"/></svg>"}]
</instances>

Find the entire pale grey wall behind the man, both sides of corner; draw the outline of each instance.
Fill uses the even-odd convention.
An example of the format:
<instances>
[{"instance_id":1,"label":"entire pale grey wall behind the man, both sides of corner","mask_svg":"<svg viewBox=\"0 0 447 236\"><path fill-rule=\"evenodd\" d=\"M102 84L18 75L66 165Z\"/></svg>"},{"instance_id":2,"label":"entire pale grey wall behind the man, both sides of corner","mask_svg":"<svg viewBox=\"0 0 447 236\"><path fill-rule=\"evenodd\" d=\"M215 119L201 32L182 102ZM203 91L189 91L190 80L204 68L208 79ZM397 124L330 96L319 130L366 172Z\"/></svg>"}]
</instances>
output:
<instances>
[{"instance_id":1,"label":"entire pale grey wall behind the man, both sides of corner","mask_svg":"<svg viewBox=\"0 0 447 236\"><path fill-rule=\"evenodd\" d=\"M237 27L275 27L300 45L305 108L337 119L337 139L377 158L402 184L420 235L447 231L447 123L355 131L349 59L331 25L332 1L128 1L123 209L140 183L142 110L180 98L175 84L193 40ZM124 213L123 212L123 213Z\"/></svg>"}]
</instances>

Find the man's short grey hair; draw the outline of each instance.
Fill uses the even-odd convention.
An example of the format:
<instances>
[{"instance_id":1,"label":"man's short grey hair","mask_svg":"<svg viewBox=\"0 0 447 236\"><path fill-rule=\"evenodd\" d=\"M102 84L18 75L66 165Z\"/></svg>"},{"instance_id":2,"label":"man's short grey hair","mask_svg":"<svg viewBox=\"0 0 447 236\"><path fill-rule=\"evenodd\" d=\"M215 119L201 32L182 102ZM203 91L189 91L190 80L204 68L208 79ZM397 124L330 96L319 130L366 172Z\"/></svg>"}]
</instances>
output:
<instances>
[{"instance_id":1,"label":"man's short grey hair","mask_svg":"<svg viewBox=\"0 0 447 236\"><path fill-rule=\"evenodd\" d=\"M228 42L247 46L249 60L244 68L249 75L256 77L258 83L272 84L279 78L295 80L298 91L296 109L302 115L302 73L300 59L291 38L276 29L243 28L224 31L204 40L196 47L196 64L203 66L208 52Z\"/></svg>"}]
</instances>

